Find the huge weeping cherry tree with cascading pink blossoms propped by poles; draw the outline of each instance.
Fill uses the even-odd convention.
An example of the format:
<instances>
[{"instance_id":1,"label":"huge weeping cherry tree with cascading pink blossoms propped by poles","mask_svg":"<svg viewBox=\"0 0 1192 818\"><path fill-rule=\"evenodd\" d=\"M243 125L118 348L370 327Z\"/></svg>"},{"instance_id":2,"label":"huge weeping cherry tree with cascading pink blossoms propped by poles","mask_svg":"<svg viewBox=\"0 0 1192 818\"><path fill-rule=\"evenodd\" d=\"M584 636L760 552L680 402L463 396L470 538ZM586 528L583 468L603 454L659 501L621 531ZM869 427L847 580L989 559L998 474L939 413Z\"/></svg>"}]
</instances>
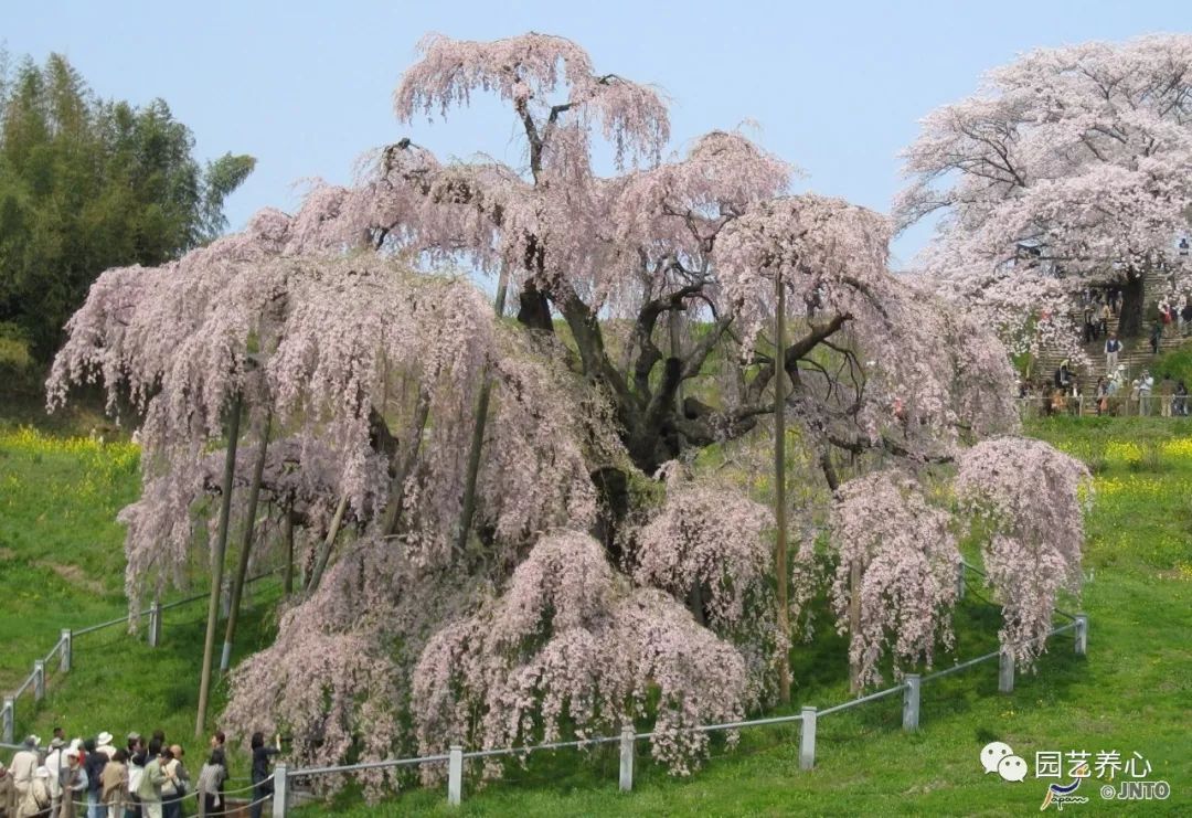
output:
<instances>
[{"instance_id":1,"label":"huge weeping cherry tree with cascading pink blossoms propped by poles","mask_svg":"<svg viewBox=\"0 0 1192 818\"><path fill-rule=\"evenodd\" d=\"M253 419L234 512L260 464L273 529L297 525L306 563L327 563L236 669L226 723L284 729L300 762L325 763L650 719L654 755L690 771L707 742L688 727L772 702L788 658L775 518L696 465L764 438L776 403L801 478L838 491L795 513L832 515L831 558L868 568L838 590L864 596L849 627L867 678L886 644L930 661L955 545L906 473L1017 430L1005 347L887 271L887 218L790 194L790 167L739 134L668 156L659 93L566 39L428 38L395 105L408 122L480 92L513 109L523 168L401 140L293 216L108 271L68 328L50 404L99 379L144 415L130 597L201 552L232 407ZM613 175L594 169L597 138ZM497 278L496 310L445 272L461 268ZM888 473L840 487L843 460ZM895 522L889 541L867 534Z\"/></svg>"}]
</instances>

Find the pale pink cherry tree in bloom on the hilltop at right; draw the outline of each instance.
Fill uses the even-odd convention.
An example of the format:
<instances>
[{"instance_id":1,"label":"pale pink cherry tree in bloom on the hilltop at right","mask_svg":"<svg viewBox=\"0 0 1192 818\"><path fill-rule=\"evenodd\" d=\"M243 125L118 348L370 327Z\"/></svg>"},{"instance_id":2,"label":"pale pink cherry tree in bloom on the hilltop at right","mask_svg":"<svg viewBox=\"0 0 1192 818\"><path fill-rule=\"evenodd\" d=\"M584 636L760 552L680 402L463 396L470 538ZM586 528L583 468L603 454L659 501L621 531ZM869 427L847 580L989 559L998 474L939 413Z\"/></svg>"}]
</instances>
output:
<instances>
[{"instance_id":1,"label":"pale pink cherry tree in bloom on the hilltop at right","mask_svg":"<svg viewBox=\"0 0 1192 818\"><path fill-rule=\"evenodd\" d=\"M899 224L940 216L925 268L1024 347L1070 346L1086 286L1124 287L1122 329L1136 334L1141 273L1192 283L1177 252L1192 212L1192 35L1031 51L930 113L904 159Z\"/></svg>"}]
</instances>

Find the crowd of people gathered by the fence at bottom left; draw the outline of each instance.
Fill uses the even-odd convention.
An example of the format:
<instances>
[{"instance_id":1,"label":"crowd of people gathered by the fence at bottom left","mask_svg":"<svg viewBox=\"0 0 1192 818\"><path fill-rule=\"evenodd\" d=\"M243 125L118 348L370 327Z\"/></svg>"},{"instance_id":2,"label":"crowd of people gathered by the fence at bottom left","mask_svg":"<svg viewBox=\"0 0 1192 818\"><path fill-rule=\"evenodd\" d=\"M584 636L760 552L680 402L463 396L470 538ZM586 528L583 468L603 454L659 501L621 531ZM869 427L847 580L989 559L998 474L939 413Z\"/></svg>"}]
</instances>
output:
<instances>
[{"instance_id":1,"label":"crowd of people gathered by the fence at bottom left","mask_svg":"<svg viewBox=\"0 0 1192 818\"><path fill-rule=\"evenodd\" d=\"M117 748L112 735L67 740L55 727L48 748L29 736L6 768L0 763L0 818L182 818L193 797L199 816L231 814L224 797L228 781L225 736L216 731L197 777L186 767L186 751L167 744L159 730L147 742L130 732ZM253 786L249 813L260 818L273 793L269 757L280 740L267 745L254 733Z\"/></svg>"}]
</instances>

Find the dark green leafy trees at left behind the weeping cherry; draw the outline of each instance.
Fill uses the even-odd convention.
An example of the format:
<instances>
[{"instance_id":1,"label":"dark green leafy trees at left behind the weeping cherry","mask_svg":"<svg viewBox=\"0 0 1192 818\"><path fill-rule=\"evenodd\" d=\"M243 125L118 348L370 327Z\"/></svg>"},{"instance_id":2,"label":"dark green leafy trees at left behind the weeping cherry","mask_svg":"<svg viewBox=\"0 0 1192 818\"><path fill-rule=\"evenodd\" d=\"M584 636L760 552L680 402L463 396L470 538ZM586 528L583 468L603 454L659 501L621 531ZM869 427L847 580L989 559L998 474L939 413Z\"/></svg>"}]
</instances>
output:
<instances>
[{"instance_id":1,"label":"dark green leafy trees at left behind the weeping cherry","mask_svg":"<svg viewBox=\"0 0 1192 818\"><path fill-rule=\"evenodd\" d=\"M45 360L100 272L218 236L256 160L200 166L163 100L103 100L61 55L7 63L0 55L0 328Z\"/></svg>"}]
</instances>

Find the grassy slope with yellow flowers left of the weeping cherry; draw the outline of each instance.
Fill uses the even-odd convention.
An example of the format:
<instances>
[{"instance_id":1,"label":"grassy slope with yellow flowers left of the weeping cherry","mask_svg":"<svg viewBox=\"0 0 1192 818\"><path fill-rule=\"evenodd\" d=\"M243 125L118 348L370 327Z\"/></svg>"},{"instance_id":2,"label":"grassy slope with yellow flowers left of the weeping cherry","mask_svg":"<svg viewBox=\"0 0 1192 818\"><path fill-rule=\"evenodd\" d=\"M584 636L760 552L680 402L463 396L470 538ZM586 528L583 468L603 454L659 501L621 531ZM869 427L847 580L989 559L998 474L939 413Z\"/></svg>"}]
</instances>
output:
<instances>
[{"instance_id":1,"label":"grassy slope with yellow flowers left of the weeping cherry","mask_svg":"<svg viewBox=\"0 0 1192 818\"><path fill-rule=\"evenodd\" d=\"M128 442L56 436L27 427L0 428L0 690L11 693L57 642L62 628L81 628L128 613L124 529L116 514L136 498L139 453ZM272 638L266 613L279 597L275 581L249 593L234 656ZM205 590L201 580L193 593ZM181 597L173 593L166 599ZM206 602L166 612L157 649L143 631L116 625L81 634L72 673L48 667L46 699L17 702L17 737L43 738L55 725L70 736L100 730L124 736L164 729L188 739L194 731L198 668ZM221 631L222 638L222 631ZM215 693L222 707L223 688Z\"/></svg>"}]
</instances>

